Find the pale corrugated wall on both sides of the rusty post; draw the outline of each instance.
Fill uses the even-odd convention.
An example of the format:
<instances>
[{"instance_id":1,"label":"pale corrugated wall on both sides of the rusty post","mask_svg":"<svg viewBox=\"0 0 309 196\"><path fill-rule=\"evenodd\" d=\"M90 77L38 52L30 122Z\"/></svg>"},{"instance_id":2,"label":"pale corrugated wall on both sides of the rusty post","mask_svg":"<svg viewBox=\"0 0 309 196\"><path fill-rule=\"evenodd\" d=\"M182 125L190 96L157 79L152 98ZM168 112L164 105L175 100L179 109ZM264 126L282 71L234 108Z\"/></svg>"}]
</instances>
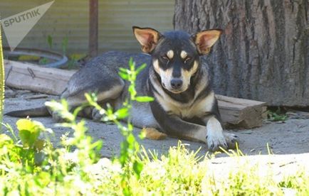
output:
<instances>
[{"instance_id":1,"label":"pale corrugated wall on both sides of the rusty post","mask_svg":"<svg viewBox=\"0 0 309 196\"><path fill-rule=\"evenodd\" d=\"M1 18L49 1L1 0ZM53 49L61 51L61 42L68 36L68 53L87 53L88 6L88 0L56 0L19 46L48 49L47 36L51 35ZM168 31L172 29L173 13L174 0L99 0L99 50L139 51L132 26Z\"/></svg>"}]
</instances>

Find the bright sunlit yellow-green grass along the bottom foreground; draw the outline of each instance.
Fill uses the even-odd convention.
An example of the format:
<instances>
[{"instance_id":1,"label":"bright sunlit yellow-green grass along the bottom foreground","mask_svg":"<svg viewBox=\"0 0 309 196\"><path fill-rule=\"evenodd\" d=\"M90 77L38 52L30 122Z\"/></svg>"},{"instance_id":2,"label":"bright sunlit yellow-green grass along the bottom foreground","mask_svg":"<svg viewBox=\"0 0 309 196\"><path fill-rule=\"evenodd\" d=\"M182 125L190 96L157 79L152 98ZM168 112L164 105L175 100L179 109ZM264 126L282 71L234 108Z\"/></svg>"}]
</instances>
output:
<instances>
[{"instance_id":1,"label":"bright sunlit yellow-green grass along the bottom foreground","mask_svg":"<svg viewBox=\"0 0 309 196\"><path fill-rule=\"evenodd\" d=\"M100 159L97 163L79 168L78 153L59 151L58 160L66 165L66 175L55 179L53 174L36 168L28 173L23 168L2 170L0 190L2 193L21 195L122 195L121 164L117 160ZM77 156L77 157L74 157ZM170 148L166 156L159 158L142 156L143 170L140 178L133 171L127 173L131 195L284 195L295 192L309 194L309 176L304 173L276 180L276 174L258 165L238 165L227 175L214 173L211 160L198 161L194 153L184 146ZM71 162L70 162L71 161ZM68 169L69 166L73 168ZM236 168L236 167L233 167ZM3 169L3 168L2 168ZM22 172L23 171L23 172ZM60 171L57 171L60 172Z\"/></svg>"}]
</instances>

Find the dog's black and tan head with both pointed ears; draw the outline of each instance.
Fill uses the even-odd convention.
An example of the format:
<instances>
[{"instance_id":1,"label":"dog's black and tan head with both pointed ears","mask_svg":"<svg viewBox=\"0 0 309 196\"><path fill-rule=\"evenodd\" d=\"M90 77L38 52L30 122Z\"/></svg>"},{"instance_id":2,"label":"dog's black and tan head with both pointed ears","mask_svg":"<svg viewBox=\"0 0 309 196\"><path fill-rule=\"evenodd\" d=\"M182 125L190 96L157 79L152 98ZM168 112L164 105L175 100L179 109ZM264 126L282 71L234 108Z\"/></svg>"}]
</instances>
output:
<instances>
[{"instance_id":1,"label":"dog's black and tan head with both pointed ears","mask_svg":"<svg viewBox=\"0 0 309 196\"><path fill-rule=\"evenodd\" d=\"M191 77L199 70L199 56L209 53L222 31L213 29L190 36L183 31L161 34L153 28L134 26L133 32L142 51L152 55L162 87L178 94L188 89Z\"/></svg>"}]
</instances>

